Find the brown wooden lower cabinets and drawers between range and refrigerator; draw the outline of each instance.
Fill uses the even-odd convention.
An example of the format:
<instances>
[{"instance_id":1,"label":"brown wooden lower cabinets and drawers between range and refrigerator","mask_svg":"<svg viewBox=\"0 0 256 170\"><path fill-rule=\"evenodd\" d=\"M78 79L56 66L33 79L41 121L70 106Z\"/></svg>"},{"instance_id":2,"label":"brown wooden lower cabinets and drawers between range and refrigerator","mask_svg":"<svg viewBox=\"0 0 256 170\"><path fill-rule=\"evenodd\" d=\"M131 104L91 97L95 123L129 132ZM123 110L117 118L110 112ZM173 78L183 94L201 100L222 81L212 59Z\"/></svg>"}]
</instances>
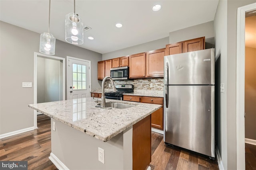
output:
<instances>
[{"instance_id":1,"label":"brown wooden lower cabinets and drawers between range and refrigerator","mask_svg":"<svg viewBox=\"0 0 256 170\"><path fill-rule=\"evenodd\" d=\"M130 96L124 95L123 100L130 102L142 102L150 104L160 104L163 106L164 98L146 97L146 96ZM158 129L164 129L164 109L161 107L151 114L151 126Z\"/></svg>"}]
</instances>

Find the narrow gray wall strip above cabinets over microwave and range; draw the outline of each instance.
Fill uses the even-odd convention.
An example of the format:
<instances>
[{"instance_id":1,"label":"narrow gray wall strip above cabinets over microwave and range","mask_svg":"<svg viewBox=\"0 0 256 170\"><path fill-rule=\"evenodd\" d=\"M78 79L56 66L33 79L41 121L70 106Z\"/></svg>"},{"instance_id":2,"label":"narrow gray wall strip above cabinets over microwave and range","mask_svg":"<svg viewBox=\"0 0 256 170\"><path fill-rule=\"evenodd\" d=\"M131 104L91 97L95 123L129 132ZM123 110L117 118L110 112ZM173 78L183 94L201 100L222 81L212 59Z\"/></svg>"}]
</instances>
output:
<instances>
[{"instance_id":1,"label":"narrow gray wall strip above cabinets over microwave and range","mask_svg":"<svg viewBox=\"0 0 256 170\"><path fill-rule=\"evenodd\" d=\"M139 45L134 45L125 49L120 49L117 51L112 51L110 53L102 54L102 60L114 59L117 57L122 57L126 55L132 55L137 53L143 53L151 50L162 49L169 44L169 37L158 39L155 41L150 41L148 43L143 43Z\"/></svg>"}]
</instances>

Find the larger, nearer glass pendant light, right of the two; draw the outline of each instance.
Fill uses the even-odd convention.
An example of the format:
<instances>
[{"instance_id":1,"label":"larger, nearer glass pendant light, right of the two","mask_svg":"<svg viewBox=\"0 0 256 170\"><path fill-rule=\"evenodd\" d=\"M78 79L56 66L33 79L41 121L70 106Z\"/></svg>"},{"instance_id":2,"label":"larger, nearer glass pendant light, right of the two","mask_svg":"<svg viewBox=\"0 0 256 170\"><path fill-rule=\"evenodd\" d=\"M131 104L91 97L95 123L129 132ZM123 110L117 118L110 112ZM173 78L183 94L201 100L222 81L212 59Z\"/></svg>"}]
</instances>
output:
<instances>
[{"instance_id":1,"label":"larger, nearer glass pendant light, right of the two","mask_svg":"<svg viewBox=\"0 0 256 170\"><path fill-rule=\"evenodd\" d=\"M74 0L74 13L66 15L65 20L65 40L68 43L80 45L84 43L83 21L76 14L76 4Z\"/></svg>"}]
</instances>

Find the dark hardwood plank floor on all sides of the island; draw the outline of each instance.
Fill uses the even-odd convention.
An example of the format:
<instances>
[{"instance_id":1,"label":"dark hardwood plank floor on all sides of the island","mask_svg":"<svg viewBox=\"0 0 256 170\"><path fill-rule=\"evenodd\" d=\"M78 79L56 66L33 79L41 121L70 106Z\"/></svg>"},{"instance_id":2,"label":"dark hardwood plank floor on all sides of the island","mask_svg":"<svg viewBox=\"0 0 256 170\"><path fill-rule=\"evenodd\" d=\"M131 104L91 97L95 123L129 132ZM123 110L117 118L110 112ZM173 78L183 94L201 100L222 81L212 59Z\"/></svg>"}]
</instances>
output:
<instances>
[{"instance_id":1,"label":"dark hardwood plank floor on all sides of the island","mask_svg":"<svg viewBox=\"0 0 256 170\"><path fill-rule=\"evenodd\" d=\"M51 152L50 128L50 117L38 115L38 129L0 139L0 160L28 161L29 170L57 170L48 158ZM158 133L152 132L151 150L152 170L218 170L215 160L166 146L163 135ZM249 156L251 150L248 149ZM255 161L251 165L255 170Z\"/></svg>"}]
</instances>

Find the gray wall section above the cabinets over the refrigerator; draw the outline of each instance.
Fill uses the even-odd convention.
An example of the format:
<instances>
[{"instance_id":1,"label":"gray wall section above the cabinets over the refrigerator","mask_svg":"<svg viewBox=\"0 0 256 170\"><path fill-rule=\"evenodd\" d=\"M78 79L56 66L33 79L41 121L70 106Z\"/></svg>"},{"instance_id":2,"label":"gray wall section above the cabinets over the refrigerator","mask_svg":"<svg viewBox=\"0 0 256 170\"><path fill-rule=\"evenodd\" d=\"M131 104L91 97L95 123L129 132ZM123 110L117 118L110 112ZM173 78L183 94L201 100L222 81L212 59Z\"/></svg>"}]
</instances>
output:
<instances>
[{"instance_id":1,"label":"gray wall section above the cabinets over the refrigerator","mask_svg":"<svg viewBox=\"0 0 256 170\"><path fill-rule=\"evenodd\" d=\"M172 44L199 37L205 37L206 41L214 37L213 21L172 31L169 33L169 43Z\"/></svg>"}]
</instances>

